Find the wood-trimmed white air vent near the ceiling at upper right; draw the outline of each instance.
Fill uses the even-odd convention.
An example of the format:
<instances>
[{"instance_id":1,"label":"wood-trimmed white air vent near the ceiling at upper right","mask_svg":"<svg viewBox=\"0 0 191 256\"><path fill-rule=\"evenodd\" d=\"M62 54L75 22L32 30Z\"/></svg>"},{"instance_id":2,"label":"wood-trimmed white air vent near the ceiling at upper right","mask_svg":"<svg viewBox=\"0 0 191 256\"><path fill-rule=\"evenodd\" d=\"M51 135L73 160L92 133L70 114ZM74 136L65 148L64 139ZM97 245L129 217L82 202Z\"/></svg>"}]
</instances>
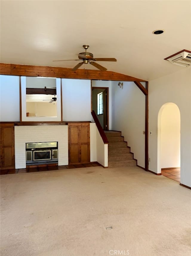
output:
<instances>
[{"instance_id":1,"label":"wood-trimmed white air vent near the ceiling at upper right","mask_svg":"<svg viewBox=\"0 0 191 256\"><path fill-rule=\"evenodd\" d=\"M191 51L182 50L177 52L164 60L170 61L172 64L176 64L178 66L189 66L191 65Z\"/></svg>"}]
</instances>

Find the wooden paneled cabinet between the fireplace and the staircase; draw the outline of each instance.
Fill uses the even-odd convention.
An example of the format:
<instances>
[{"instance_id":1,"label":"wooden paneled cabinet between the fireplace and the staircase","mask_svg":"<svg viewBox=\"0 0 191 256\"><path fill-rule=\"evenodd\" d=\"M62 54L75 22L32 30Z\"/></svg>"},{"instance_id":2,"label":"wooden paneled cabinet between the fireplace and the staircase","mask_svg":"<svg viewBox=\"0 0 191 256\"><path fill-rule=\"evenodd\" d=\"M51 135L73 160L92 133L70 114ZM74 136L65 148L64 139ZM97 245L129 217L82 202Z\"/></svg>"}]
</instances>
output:
<instances>
[{"instance_id":1,"label":"wooden paneled cabinet between the fireplace and the staircase","mask_svg":"<svg viewBox=\"0 0 191 256\"><path fill-rule=\"evenodd\" d=\"M69 164L90 162L90 123L68 123Z\"/></svg>"}]
</instances>

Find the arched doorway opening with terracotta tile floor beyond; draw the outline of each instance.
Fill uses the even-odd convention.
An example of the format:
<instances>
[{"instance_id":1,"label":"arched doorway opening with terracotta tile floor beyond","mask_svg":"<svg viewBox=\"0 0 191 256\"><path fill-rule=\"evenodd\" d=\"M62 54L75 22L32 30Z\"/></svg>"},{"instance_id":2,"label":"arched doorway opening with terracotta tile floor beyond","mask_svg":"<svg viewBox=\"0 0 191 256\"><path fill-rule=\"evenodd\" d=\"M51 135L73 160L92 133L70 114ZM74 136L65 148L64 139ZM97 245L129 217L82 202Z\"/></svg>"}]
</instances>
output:
<instances>
[{"instance_id":1,"label":"arched doorway opening with terracotta tile floor beyond","mask_svg":"<svg viewBox=\"0 0 191 256\"><path fill-rule=\"evenodd\" d=\"M165 103L158 112L158 173L180 182L180 111Z\"/></svg>"}]
</instances>

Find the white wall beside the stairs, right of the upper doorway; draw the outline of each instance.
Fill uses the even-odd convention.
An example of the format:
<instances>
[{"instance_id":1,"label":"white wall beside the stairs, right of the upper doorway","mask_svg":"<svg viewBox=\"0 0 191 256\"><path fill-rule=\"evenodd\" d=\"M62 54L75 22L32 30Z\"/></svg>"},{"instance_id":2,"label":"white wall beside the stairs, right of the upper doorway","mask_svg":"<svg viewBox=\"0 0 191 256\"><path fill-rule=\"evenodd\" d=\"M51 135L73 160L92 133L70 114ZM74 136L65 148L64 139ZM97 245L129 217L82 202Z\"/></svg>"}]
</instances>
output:
<instances>
[{"instance_id":1,"label":"white wall beside the stairs, right of the upper doorway","mask_svg":"<svg viewBox=\"0 0 191 256\"><path fill-rule=\"evenodd\" d=\"M134 82L123 82L123 89L112 82L112 130L121 131L137 164L145 167L145 95Z\"/></svg>"}]
</instances>

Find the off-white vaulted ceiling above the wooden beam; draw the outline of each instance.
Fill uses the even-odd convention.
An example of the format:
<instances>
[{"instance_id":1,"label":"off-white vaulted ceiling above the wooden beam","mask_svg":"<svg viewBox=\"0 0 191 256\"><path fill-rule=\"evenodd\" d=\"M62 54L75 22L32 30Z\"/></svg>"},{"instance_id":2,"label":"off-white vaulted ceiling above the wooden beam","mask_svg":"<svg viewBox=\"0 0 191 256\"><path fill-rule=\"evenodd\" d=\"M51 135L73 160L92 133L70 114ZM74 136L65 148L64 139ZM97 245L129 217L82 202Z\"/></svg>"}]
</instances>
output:
<instances>
[{"instance_id":1,"label":"off-white vaulted ceiling above the wooden beam","mask_svg":"<svg viewBox=\"0 0 191 256\"><path fill-rule=\"evenodd\" d=\"M117 59L98 61L108 70L144 80L189 68L164 58L191 50L191 1L1 1L1 63L73 68L53 60L78 58L83 44Z\"/></svg>"}]
</instances>

